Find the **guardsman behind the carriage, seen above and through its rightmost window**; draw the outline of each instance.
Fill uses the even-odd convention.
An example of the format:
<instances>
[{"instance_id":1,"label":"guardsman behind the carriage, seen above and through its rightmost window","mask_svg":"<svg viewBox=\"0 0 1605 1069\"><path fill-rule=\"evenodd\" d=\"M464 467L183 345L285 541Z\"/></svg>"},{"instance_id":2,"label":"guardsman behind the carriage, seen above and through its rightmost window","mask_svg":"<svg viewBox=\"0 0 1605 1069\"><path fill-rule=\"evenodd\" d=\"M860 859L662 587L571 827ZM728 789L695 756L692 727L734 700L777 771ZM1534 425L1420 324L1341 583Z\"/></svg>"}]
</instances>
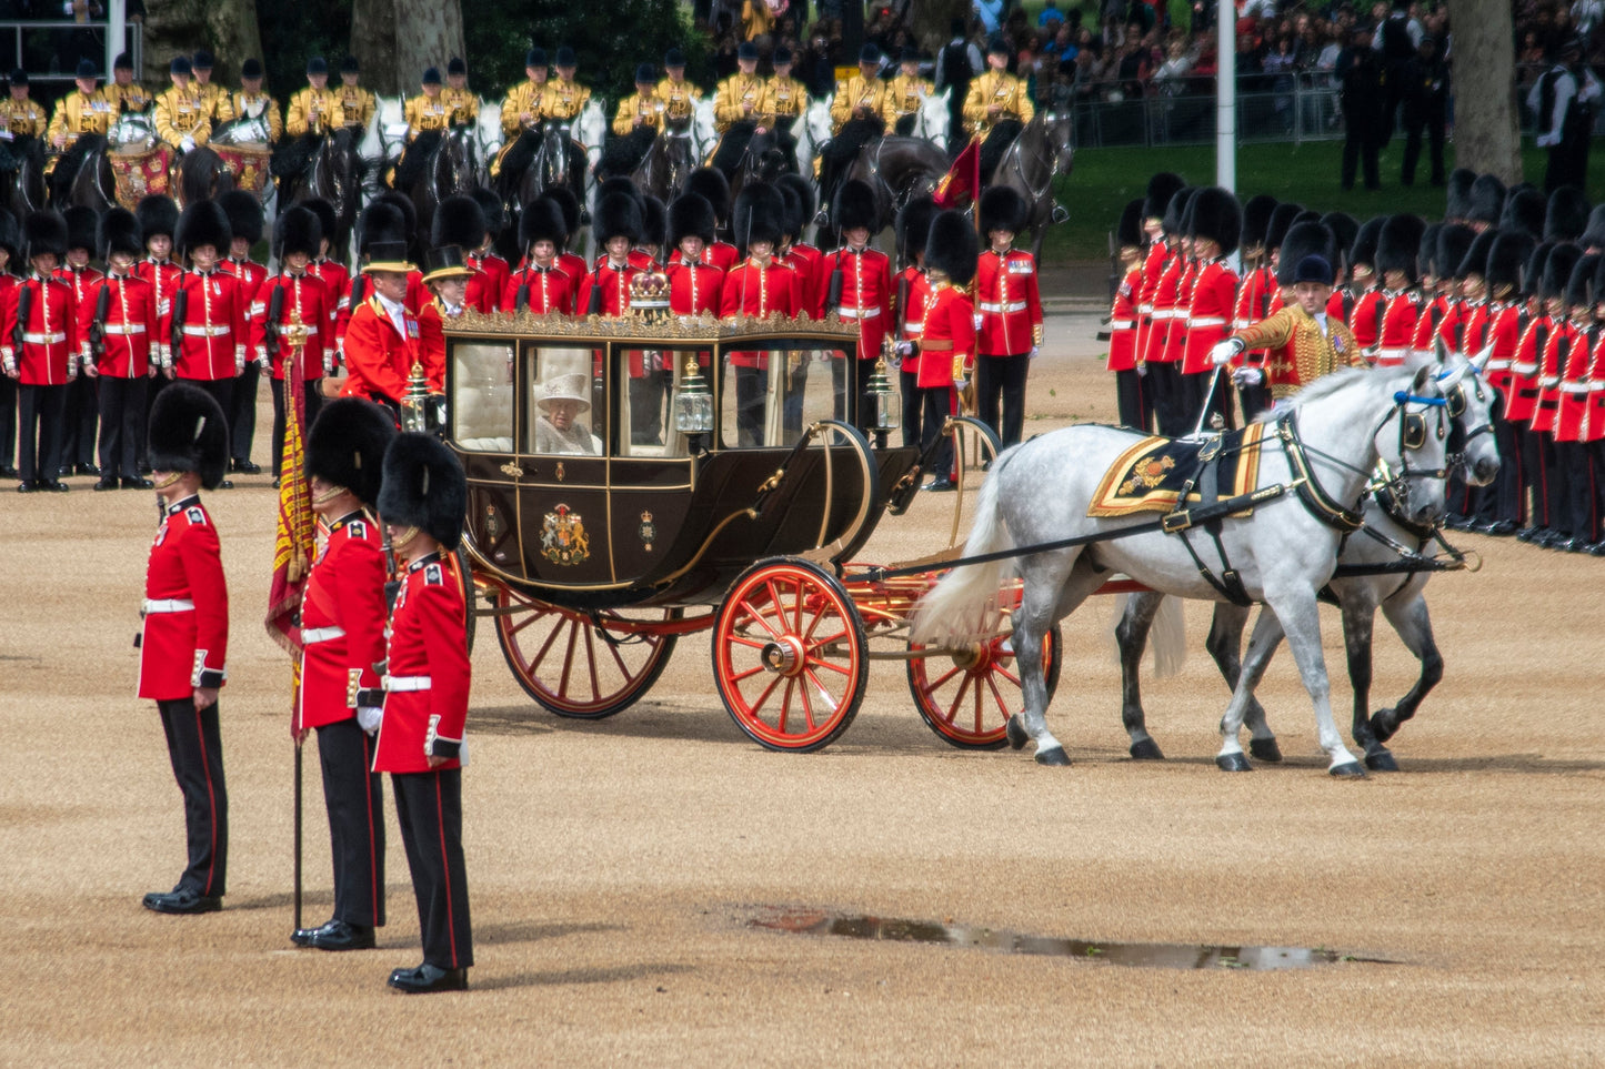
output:
<instances>
[{"instance_id":1,"label":"guardsman behind the carriage, seen above and through its rightmost window","mask_svg":"<svg viewBox=\"0 0 1605 1069\"><path fill-rule=\"evenodd\" d=\"M724 279L724 291L719 295L721 319L733 316L764 319L774 313L794 316L799 311L796 271L774 257L783 210L785 202L775 188L761 181L748 183L735 197L735 233L746 242L746 258ZM730 366L735 368L737 441L743 446L766 445L764 404L769 396L769 353L730 353Z\"/></svg>"}]
</instances>

